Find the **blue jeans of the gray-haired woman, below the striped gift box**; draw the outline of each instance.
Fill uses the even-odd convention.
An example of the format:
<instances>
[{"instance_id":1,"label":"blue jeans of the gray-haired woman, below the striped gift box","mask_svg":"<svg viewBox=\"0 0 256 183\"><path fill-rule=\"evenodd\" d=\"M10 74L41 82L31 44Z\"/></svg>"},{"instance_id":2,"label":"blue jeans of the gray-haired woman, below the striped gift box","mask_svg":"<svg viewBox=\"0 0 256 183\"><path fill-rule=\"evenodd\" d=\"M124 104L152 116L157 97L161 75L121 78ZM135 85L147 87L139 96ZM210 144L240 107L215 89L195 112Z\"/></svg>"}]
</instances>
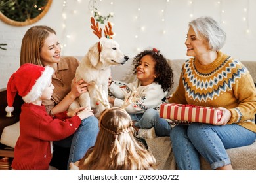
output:
<instances>
[{"instance_id":1,"label":"blue jeans of the gray-haired woman, below the striped gift box","mask_svg":"<svg viewBox=\"0 0 256 183\"><path fill-rule=\"evenodd\" d=\"M237 124L192 123L176 125L170 137L178 168L198 170L200 156L210 163L211 169L229 165L226 149L253 144L256 133Z\"/></svg>"}]
</instances>

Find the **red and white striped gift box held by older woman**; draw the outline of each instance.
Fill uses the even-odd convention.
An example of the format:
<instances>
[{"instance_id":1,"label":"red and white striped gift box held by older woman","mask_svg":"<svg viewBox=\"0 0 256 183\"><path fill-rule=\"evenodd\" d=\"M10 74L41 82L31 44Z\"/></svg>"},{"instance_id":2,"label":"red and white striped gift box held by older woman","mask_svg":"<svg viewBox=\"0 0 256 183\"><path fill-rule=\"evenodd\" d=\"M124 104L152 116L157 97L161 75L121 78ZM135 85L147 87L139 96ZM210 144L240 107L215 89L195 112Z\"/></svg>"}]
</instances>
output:
<instances>
[{"instance_id":1,"label":"red and white striped gift box held by older woman","mask_svg":"<svg viewBox=\"0 0 256 183\"><path fill-rule=\"evenodd\" d=\"M181 122L201 122L213 124L221 120L222 111L214 107L163 103L160 117Z\"/></svg>"}]
</instances>

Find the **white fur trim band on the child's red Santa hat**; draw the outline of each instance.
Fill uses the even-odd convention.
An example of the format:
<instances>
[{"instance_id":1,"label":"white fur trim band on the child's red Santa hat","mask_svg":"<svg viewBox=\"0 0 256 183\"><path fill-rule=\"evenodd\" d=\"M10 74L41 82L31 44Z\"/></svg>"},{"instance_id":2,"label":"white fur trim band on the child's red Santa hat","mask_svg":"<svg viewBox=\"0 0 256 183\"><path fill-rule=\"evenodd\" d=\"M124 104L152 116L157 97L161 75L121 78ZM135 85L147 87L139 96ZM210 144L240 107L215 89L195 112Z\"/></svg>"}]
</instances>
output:
<instances>
[{"instance_id":1,"label":"white fur trim band on the child's red Santa hat","mask_svg":"<svg viewBox=\"0 0 256 183\"><path fill-rule=\"evenodd\" d=\"M54 69L46 66L45 71L43 71L43 74L37 79L30 92L28 92L26 96L22 97L24 102L31 103L41 97L42 92L45 90L47 84L49 84L49 80L51 79L53 73Z\"/></svg>"}]
</instances>

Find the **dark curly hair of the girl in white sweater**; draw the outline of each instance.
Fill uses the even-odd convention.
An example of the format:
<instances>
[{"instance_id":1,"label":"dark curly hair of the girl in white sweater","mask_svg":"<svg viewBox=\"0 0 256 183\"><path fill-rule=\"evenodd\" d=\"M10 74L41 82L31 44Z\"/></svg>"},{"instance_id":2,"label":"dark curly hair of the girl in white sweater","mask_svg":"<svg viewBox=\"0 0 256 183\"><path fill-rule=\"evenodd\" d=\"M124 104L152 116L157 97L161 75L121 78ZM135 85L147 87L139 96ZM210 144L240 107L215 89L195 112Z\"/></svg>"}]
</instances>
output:
<instances>
[{"instance_id":1,"label":"dark curly hair of the girl in white sweater","mask_svg":"<svg viewBox=\"0 0 256 183\"><path fill-rule=\"evenodd\" d=\"M173 87L173 69L171 69L171 66L167 63L167 59L160 54L159 50L154 48L153 50L144 50L137 54L132 63L133 73L136 74L136 68L138 67L141 58L146 55L152 56L154 61L156 61L155 73L158 77L155 78L154 82L161 84L161 88L163 88L164 92L169 92Z\"/></svg>"}]
</instances>

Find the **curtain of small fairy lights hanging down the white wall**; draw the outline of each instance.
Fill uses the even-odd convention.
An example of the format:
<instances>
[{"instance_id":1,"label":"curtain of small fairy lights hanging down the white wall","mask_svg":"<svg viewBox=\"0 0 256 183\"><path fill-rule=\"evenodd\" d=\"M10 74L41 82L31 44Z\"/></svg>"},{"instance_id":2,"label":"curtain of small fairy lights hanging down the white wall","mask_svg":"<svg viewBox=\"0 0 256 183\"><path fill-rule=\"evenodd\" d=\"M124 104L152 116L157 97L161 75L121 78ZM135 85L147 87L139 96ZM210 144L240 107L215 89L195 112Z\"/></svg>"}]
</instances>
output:
<instances>
[{"instance_id":1,"label":"curtain of small fairy lights hanging down the white wall","mask_svg":"<svg viewBox=\"0 0 256 183\"><path fill-rule=\"evenodd\" d=\"M83 3L82 0L76 0L77 3ZM127 0L128 1L128 0ZM146 27L144 26L144 20L142 20L142 13L145 13L145 9L143 9L143 7L145 7L145 5L142 5L142 3L144 3L145 1L142 0L129 0L129 1L136 1L137 3L135 3L137 5L137 7L135 8L135 14L131 14L131 16L133 16L133 18L131 18L131 20L134 21L135 23L135 50L137 50L138 52L140 51L140 38L143 36L146 36ZM160 32L163 34L163 36L166 35L166 33L169 31L168 27L167 27L167 12L170 9L171 6L173 6L174 3L177 3L177 1L181 2L181 0L156 0L159 3L161 3L161 9L160 10L156 10L155 12L160 12L159 14L156 14L156 16L159 16L159 21L163 22L163 24L161 24L162 27L159 27ZM188 12L188 19L191 20L192 18L196 18L195 17L195 11L196 11L196 7L197 5L200 4L200 1L202 0L182 0L183 3L186 2L186 5L188 6L187 8L190 10ZM241 21L245 22L245 33L249 34L251 33L251 29L249 27L249 7L250 7L250 1L253 0L245 0L246 3L244 3L244 7L242 8L242 19ZM70 4L74 3L74 0L72 0L72 2L70 1ZM225 8L227 8L227 6L225 5L225 0L216 0L216 1L212 1L213 5L217 6L217 9L219 9L219 22L221 22L221 24L225 25L228 23L228 19L230 18L230 16L228 16L228 14L226 14ZM108 5L108 6L106 6ZM62 44L63 47L66 47L66 42L68 41L68 39L72 36L68 34L67 31L67 25L66 25L66 20L68 18L68 14L70 13L67 12L67 7L68 6L68 0L64 0L63 1L63 7L62 7L62 27L63 27L63 31L62 31L62 42L64 44ZM90 0L89 1L89 5L88 7L96 7L98 14L101 14L101 11L104 12L109 12L113 18L110 19L110 22L112 22L112 20L115 19L115 10L118 8L116 6L116 2L114 0ZM70 8L70 7L69 7ZM103 9L104 8L104 9ZM106 9L108 8L108 9ZM91 15L93 16L95 9L91 8ZM76 13L77 10L73 10L73 13ZM154 13L154 12L150 12L150 13ZM119 16L120 17L120 16Z\"/></svg>"}]
</instances>

